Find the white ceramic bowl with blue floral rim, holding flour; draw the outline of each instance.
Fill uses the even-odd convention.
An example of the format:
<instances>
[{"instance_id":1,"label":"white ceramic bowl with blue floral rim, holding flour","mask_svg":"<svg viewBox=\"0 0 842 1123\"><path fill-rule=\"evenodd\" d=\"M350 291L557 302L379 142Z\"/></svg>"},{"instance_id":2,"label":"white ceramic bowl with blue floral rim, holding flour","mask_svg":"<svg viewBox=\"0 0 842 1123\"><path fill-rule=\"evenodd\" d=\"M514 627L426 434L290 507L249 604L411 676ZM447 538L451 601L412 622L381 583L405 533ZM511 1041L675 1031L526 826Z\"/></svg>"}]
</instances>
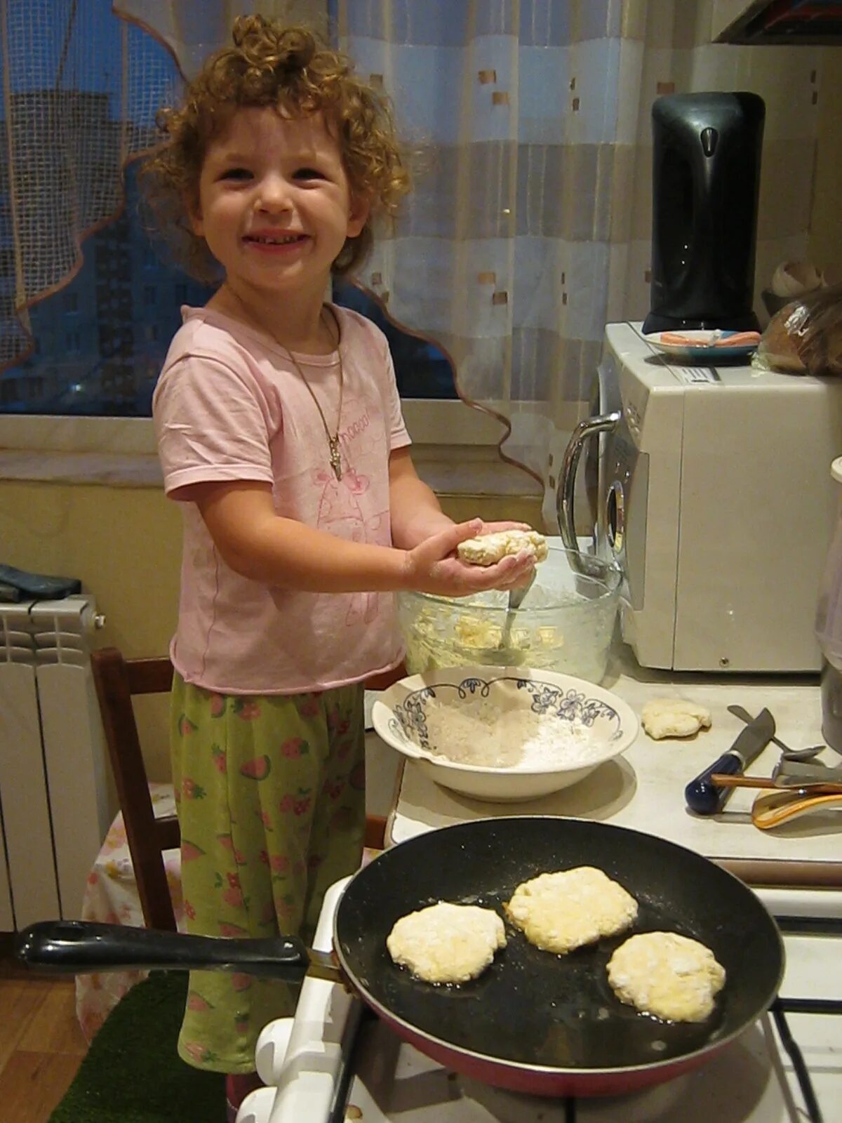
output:
<instances>
[{"instance_id":1,"label":"white ceramic bowl with blue floral rim, holding flour","mask_svg":"<svg viewBox=\"0 0 842 1123\"><path fill-rule=\"evenodd\" d=\"M447 730L442 707L461 707L472 722L505 725L511 748L512 729L523 714L524 739L534 721L528 714L546 714L570 723L575 743L541 748L522 763L500 766L466 764L448 759L447 746L436 743L428 729L434 707L434 725ZM377 733L392 748L411 757L432 780L475 800L512 803L533 800L578 783L600 765L624 752L638 736L638 718L631 706L611 691L571 675L529 667L446 667L410 675L378 697L372 719ZM459 721L464 724L464 721ZM551 722L556 725L556 722ZM493 724L479 727L493 738ZM455 751L454 749L451 749ZM565 760L567 757L567 760ZM586 759L585 759L586 758Z\"/></svg>"}]
</instances>

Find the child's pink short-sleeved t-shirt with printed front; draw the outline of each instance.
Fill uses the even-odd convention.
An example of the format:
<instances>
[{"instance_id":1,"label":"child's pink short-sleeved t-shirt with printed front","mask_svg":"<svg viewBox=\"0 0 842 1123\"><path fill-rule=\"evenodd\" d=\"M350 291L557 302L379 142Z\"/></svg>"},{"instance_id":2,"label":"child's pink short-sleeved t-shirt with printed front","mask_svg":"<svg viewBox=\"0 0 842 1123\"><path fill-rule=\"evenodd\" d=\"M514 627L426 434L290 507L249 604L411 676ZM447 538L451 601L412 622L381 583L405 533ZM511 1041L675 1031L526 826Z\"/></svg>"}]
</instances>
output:
<instances>
[{"instance_id":1,"label":"child's pink short-sleeved t-shirt with printed front","mask_svg":"<svg viewBox=\"0 0 842 1123\"><path fill-rule=\"evenodd\" d=\"M341 329L342 478L319 412L287 353L211 309L182 309L153 398L164 487L272 484L278 514L338 538L390 546L388 457L410 444L388 344L370 320L332 308ZM296 355L333 431L338 355ZM195 503L184 553L173 665L225 694L296 694L358 682L401 659L392 593L291 592L241 577Z\"/></svg>"}]
</instances>

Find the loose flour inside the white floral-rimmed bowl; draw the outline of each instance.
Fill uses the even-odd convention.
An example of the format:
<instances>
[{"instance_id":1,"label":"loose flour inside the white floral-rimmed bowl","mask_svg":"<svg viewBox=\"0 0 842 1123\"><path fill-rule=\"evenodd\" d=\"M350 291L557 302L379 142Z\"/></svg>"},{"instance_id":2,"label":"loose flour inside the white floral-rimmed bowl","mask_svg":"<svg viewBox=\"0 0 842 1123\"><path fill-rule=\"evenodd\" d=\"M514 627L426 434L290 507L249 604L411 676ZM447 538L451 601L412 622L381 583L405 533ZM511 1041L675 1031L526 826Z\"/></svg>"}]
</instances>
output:
<instances>
[{"instance_id":1,"label":"loose flour inside the white floral-rimmed bowl","mask_svg":"<svg viewBox=\"0 0 842 1123\"><path fill-rule=\"evenodd\" d=\"M580 722L532 710L503 710L487 699L424 706L430 750L484 768L548 768L593 764L605 746Z\"/></svg>"}]
</instances>

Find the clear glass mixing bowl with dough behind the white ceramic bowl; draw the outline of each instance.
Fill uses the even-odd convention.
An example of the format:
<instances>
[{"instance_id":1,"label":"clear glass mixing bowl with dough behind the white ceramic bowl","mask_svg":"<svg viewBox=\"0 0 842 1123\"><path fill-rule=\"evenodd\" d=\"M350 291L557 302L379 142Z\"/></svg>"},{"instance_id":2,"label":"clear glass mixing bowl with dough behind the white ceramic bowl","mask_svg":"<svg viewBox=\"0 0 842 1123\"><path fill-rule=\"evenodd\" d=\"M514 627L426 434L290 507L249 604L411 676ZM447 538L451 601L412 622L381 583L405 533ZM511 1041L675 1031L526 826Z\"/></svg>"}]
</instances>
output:
<instances>
[{"instance_id":1,"label":"clear glass mixing bowl with dough behind the white ceramic bowl","mask_svg":"<svg viewBox=\"0 0 842 1123\"><path fill-rule=\"evenodd\" d=\"M529 666L598 683L614 633L622 573L613 562L550 546L502 645L509 594L399 593L410 674L443 667Z\"/></svg>"}]
</instances>

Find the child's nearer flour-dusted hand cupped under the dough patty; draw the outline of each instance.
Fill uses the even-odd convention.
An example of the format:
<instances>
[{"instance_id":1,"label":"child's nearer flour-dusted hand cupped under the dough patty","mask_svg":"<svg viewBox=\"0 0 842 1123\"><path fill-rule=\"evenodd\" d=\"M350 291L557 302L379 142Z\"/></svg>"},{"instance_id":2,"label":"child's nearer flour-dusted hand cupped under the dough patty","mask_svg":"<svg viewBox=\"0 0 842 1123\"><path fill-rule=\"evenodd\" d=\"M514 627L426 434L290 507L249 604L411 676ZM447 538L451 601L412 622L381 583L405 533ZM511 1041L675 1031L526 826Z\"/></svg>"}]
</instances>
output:
<instances>
[{"instance_id":1,"label":"child's nearer flour-dusted hand cupped under the dough patty","mask_svg":"<svg viewBox=\"0 0 842 1123\"><path fill-rule=\"evenodd\" d=\"M460 522L408 550L406 587L439 596L467 596L488 588L510 590L522 585L534 567L534 557L528 550L491 566L468 565L456 557L459 542L481 533L482 527L478 519Z\"/></svg>"}]
</instances>

